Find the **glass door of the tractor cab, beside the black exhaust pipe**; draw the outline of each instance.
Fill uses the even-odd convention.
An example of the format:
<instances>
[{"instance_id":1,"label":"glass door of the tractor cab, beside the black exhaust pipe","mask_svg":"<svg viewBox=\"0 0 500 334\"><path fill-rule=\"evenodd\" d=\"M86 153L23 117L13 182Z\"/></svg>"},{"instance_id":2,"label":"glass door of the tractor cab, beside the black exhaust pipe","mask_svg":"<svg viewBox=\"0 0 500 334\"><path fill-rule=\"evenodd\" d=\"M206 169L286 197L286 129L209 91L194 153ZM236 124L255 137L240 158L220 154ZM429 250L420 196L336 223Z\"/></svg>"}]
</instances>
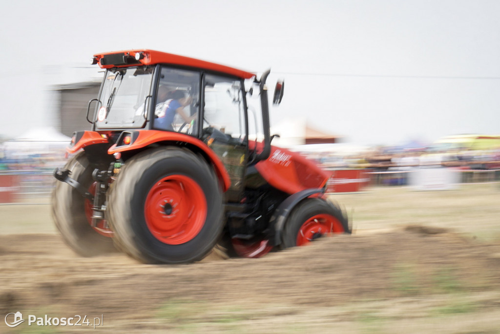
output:
<instances>
[{"instance_id":1,"label":"glass door of the tractor cab, beside the black exhaust pipe","mask_svg":"<svg viewBox=\"0 0 500 334\"><path fill-rule=\"evenodd\" d=\"M246 105L243 81L207 74L202 80L203 140L224 164L231 179L226 200L239 201L248 158Z\"/></svg>"}]
</instances>

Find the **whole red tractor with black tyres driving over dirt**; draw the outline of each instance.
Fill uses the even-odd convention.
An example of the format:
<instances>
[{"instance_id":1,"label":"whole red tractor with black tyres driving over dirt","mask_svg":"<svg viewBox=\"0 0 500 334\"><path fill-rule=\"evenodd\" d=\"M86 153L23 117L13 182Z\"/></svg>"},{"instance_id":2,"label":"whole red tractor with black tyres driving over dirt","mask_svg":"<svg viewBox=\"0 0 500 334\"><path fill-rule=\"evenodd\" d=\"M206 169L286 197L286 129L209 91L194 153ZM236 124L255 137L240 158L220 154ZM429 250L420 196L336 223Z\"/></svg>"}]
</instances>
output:
<instances>
[{"instance_id":1,"label":"whole red tractor with black tyres driving over dirt","mask_svg":"<svg viewBox=\"0 0 500 334\"><path fill-rule=\"evenodd\" d=\"M53 217L77 253L118 248L146 263L180 263L215 244L258 257L350 233L325 199L328 174L271 146L269 71L257 79L147 49L91 62L105 69L87 107L91 130L73 134L72 157L54 171ZM282 94L278 81L273 103Z\"/></svg>"}]
</instances>

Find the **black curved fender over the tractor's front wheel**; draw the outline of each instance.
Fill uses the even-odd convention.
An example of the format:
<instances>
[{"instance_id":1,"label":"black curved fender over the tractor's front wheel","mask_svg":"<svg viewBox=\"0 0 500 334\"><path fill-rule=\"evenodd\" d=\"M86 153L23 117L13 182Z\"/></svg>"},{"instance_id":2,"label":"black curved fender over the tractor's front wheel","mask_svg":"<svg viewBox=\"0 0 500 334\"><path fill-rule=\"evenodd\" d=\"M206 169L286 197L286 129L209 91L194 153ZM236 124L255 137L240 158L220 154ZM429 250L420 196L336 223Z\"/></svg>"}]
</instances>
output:
<instances>
[{"instance_id":1,"label":"black curved fender over the tractor's front wheel","mask_svg":"<svg viewBox=\"0 0 500 334\"><path fill-rule=\"evenodd\" d=\"M271 218L269 219L269 242L272 246L277 246L281 243L281 233L283 230L284 222L288 218L291 210L302 199L314 194L323 194L324 189L305 189L286 197L285 200L279 204Z\"/></svg>"}]
</instances>

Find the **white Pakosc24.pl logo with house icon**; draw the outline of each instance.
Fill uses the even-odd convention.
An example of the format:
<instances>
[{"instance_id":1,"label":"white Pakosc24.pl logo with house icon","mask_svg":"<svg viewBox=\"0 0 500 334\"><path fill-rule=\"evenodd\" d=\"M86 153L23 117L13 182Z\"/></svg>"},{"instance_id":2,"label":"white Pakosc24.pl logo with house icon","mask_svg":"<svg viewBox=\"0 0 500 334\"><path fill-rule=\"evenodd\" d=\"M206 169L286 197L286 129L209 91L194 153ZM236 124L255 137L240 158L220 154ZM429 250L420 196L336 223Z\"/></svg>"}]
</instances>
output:
<instances>
[{"instance_id":1,"label":"white Pakosc24.pl logo with house icon","mask_svg":"<svg viewBox=\"0 0 500 334\"><path fill-rule=\"evenodd\" d=\"M13 314L13 315L12 315ZM103 315L101 314L100 317L88 317L86 315L83 315L81 317L80 315L74 315L72 317L48 317L47 314L45 314L44 317L36 317L33 314L28 315L28 325L30 326L31 324L37 325L37 326L92 326L95 329L95 326L102 326L103 323ZM93 321L91 321L91 319ZM24 322L25 319L22 318L22 313L17 311L15 313L8 313L5 315L5 324L9 327L15 327L22 322Z\"/></svg>"}]
</instances>

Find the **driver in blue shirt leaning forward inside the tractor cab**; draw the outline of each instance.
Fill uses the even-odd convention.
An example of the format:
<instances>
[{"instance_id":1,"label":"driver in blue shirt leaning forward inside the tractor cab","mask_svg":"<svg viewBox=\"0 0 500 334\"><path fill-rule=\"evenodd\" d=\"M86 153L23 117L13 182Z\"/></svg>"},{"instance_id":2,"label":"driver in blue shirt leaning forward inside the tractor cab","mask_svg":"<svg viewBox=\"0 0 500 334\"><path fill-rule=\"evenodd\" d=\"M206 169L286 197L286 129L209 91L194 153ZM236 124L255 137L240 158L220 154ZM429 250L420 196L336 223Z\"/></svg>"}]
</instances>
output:
<instances>
[{"instance_id":1,"label":"driver in blue shirt leaning forward inside the tractor cab","mask_svg":"<svg viewBox=\"0 0 500 334\"><path fill-rule=\"evenodd\" d=\"M172 123L176 113L187 123L195 118L195 115L188 116L184 111L184 107L191 103L191 97L183 91L173 90L162 94L161 89L159 89L158 101L162 100L163 102L156 104L154 127L173 131Z\"/></svg>"}]
</instances>

